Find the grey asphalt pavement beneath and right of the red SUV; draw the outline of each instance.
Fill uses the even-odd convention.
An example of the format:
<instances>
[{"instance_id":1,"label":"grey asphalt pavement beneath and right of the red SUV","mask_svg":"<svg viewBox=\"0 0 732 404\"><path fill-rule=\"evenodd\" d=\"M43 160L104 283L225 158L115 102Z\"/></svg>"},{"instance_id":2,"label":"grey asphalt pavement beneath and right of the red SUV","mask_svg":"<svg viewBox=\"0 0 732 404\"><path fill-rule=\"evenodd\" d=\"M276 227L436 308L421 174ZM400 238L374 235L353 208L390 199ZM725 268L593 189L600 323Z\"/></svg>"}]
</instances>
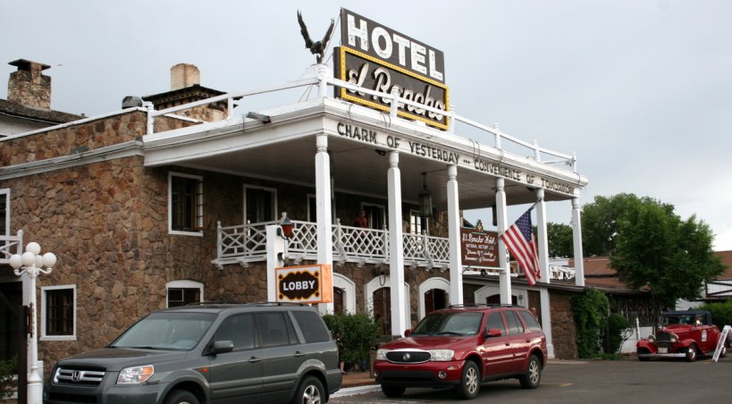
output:
<instances>
[{"instance_id":1,"label":"grey asphalt pavement beneath and right of the red SUV","mask_svg":"<svg viewBox=\"0 0 732 404\"><path fill-rule=\"evenodd\" d=\"M712 403L732 401L732 355L719 362L683 360L551 362L536 390L517 380L485 383L477 399L467 402L510 403ZM381 391L340 397L332 404L442 403L458 400L452 391L407 389L401 399Z\"/></svg>"}]
</instances>

